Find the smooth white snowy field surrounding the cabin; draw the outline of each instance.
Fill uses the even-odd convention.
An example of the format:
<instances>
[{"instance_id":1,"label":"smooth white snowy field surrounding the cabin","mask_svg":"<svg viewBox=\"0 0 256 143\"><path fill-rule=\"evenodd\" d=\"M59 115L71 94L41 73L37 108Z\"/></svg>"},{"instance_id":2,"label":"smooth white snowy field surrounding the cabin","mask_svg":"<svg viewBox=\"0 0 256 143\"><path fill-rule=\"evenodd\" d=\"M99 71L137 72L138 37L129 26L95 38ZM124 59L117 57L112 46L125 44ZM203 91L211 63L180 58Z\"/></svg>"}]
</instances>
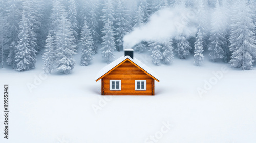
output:
<instances>
[{"instance_id":1,"label":"smooth white snowy field surrounding the cabin","mask_svg":"<svg viewBox=\"0 0 256 143\"><path fill-rule=\"evenodd\" d=\"M122 55L115 52L116 59ZM155 96L101 96L101 82L94 80L106 65L100 54L86 67L76 55L69 75L41 74L41 56L31 71L0 69L0 142L256 142L256 67L242 71L208 59L197 67L193 57L155 66L145 54L135 57L160 76ZM4 84L8 140L2 133Z\"/></svg>"}]
</instances>

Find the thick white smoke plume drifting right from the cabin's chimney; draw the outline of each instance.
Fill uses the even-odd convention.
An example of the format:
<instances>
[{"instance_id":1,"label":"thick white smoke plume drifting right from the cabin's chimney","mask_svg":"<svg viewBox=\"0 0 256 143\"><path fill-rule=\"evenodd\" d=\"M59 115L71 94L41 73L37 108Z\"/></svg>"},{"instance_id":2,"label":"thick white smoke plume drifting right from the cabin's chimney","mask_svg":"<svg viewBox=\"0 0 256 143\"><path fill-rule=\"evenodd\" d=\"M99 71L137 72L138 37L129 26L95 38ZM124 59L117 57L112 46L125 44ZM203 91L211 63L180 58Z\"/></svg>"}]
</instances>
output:
<instances>
[{"instance_id":1,"label":"thick white smoke plume drifting right from the cabin's chimney","mask_svg":"<svg viewBox=\"0 0 256 143\"><path fill-rule=\"evenodd\" d=\"M188 8L165 8L154 13L149 21L124 36L123 46L132 48L141 41L164 42L169 38L195 36L196 11Z\"/></svg>"}]
</instances>

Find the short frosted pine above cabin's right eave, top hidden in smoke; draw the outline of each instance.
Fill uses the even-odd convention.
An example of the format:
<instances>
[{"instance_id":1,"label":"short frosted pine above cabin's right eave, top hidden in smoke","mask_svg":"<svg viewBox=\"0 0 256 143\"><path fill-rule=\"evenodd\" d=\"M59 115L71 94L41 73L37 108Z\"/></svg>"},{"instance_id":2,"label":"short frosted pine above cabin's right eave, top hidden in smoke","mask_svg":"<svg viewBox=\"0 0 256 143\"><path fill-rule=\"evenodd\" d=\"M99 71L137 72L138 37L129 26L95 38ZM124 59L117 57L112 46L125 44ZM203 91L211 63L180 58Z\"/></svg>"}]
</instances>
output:
<instances>
[{"instance_id":1,"label":"short frosted pine above cabin's right eave, top hidden in smoke","mask_svg":"<svg viewBox=\"0 0 256 143\"><path fill-rule=\"evenodd\" d=\"M161 64L161 60L163 59L163 54L161 52L162 45L159 42L150 42L150 52L151 52L151 57L152 57L152 63L156 65Z\"/></svg>"}]
</instances>

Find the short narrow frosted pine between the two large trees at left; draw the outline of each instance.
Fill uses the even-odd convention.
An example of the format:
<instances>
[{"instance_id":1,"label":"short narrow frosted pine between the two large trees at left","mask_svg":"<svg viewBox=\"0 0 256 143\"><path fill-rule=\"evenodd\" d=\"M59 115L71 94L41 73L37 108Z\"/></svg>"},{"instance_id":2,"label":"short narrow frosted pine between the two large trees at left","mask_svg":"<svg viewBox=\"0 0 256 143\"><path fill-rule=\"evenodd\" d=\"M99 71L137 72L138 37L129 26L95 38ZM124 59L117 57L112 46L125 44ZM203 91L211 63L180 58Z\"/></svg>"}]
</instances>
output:
<instances>
[{"instance_id":1,"label":"short narrow frosted pine between the two large trees at left","mask_svg":"<svg viewBox=\"0 0 256 143\"><path fill-rule=\"evenodd\" d=\"M48 34L46 38L46 46L45 52L42 55L42 60L44 61L44 66L42 70L44 70L45 74L51 74L52 70L54 69L54 51L53 51L53 38L50 34Z\"/></svg>"}]
</instances>

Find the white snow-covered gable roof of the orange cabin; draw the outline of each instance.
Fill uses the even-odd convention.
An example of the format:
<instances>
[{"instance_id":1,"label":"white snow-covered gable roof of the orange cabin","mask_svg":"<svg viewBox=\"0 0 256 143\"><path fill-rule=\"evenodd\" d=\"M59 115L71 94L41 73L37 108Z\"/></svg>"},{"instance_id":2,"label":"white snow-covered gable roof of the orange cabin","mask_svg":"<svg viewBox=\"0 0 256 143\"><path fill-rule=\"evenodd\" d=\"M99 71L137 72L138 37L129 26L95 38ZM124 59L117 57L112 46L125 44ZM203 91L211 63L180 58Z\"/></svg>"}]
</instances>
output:
<instances>
[{"instance_id":1,"label":"white snow-covered gable roof of the orange cabin","mask_svg":"<svg viewBox=\"0 0 256 143\"><path fill-rule=\"evenodd\" d=\"M126 59L129 59L130 61L135 63L137 66L139 66L140 68L145 70L146 73L150 74L151 76L153 76L155 79L157 79L159 81L158 75L150 67L146 66L144 63L142 63L141 61L139 61L136 58L132 59L130 56L122 56L122 57L118 58L117 60L113 61L112 63L110 63L109 65L102 68L99 71L99 73L97 74L97 76L95 77L95 80L97 81L99 78L101 78L103 75L108 73L111 69L113 69L114 67L116 67L118 64L120 64L121 62L123 62Z\"/></svg>"}]
</instances>

